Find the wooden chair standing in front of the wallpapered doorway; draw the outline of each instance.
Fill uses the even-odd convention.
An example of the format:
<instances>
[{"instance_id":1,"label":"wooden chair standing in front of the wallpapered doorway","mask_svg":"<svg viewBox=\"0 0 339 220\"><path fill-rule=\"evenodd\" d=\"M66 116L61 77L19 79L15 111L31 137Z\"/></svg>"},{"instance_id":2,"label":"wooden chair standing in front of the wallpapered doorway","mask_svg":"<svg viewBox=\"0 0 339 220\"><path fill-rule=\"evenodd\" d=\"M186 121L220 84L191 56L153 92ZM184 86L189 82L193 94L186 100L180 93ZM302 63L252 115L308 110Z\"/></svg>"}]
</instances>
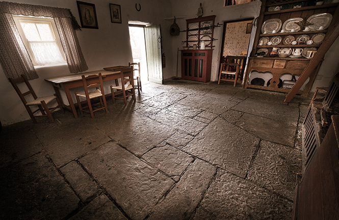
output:
<instances>
[{"instance_id":1,"label":"wooden chair standing in front of the wallpapered doorway","mask_svg":"<svg viewBox=\"0 0 339 220\"><path fill-rule=\"evenodd\" d=\"M220 65L218 84L220 81L233 81L235 87L238 78L241 77L245 58L244 56L226 56L226 63Z\"/></svg>"}]
</instances>

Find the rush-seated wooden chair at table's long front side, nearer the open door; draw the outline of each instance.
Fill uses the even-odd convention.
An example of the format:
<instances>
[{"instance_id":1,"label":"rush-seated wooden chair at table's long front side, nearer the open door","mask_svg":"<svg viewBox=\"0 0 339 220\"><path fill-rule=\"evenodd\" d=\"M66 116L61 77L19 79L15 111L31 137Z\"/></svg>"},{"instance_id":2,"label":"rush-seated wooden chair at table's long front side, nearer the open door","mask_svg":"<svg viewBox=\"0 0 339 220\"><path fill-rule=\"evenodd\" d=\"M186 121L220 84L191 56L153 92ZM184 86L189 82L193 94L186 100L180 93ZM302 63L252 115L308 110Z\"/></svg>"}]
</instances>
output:
<instances>
[{"instance_id":1,"label":"rush-seated wooden chair at table's long front side, nearer the open door","mask_svg":"<svg viewBox=\"0 0 339 220\"><path fill-rule=\"evenodd\" d=\"M134 91L134 76L133 76L133 67L125 67L120 69L120 86L111 86L112 99L115 103L115 99L123 99L125 105L127 104L127 97L133 96L134 101L136 101L136 94ZM114 92L114 90L117 90ZM117 95L122 94L123 98L117 97Z\"/></svg>"}]
</instances>

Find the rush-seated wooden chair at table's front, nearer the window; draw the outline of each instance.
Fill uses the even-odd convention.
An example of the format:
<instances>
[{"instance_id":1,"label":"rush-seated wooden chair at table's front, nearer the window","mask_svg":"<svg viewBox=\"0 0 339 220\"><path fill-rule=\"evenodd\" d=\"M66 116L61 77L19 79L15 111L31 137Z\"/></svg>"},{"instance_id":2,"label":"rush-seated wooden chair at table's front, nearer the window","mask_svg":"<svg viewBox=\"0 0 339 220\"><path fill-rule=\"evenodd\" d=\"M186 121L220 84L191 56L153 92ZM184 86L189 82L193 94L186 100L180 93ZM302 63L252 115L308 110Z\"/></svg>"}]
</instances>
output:
<instances>
[{"instance_id":1,"label":"rush-seated wooden chair at table's front, nearer the window","mask_svg":"<svg viewBox=\"0 0 339 220\"><path fill-rule=\"evenodd\" d=\"M101 109L105 109L106 113L108 113L105 92L103 91L103 82L102 82L101 73L99 73L98 75L95 75L95 74L89 75L87 77L85 77L85 75L82 75L81 77L83 79L85 94L80 94L80 93L75 92L77 104L79 105L79 108L80 108L80 114L83 115L83 112L86 112L86 113L91 114L91 117L94 118L94 112L99 111ZM99 82L97 81L98 79L99 79ZM88 92L88 89L93 88L93 87L96 87L96 90L92 92ZM86 98L87 106L83 107L81 105L80 97ZM99 102L92 105L91 99L94 99L94 98L99 98ZM92 106L99 105L99 104L100 104L100 107L93 110ZM89 111L84 110L84 108L87 108L87 107L89 108Z\"/></svg>"}]
</instances>

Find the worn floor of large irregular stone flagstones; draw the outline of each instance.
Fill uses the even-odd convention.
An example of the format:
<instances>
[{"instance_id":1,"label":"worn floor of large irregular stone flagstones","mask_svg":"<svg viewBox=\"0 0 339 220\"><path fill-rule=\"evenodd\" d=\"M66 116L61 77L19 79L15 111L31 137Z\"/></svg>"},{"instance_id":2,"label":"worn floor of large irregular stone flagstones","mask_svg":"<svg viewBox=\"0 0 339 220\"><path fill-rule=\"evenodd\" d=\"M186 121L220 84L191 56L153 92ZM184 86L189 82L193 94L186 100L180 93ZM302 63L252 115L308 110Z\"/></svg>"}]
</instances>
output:
<instances>
[{"instance_id":1,"label":"worn floor of large irregular stone flagstones","mask_svg":"<svg viewBox=\"0 0 339 220\"><path fill-rule=\"evenodd\" d=\"M291 219L309 98L166 80L3 127L0 219Z\"/></svg>"}]
</instances>

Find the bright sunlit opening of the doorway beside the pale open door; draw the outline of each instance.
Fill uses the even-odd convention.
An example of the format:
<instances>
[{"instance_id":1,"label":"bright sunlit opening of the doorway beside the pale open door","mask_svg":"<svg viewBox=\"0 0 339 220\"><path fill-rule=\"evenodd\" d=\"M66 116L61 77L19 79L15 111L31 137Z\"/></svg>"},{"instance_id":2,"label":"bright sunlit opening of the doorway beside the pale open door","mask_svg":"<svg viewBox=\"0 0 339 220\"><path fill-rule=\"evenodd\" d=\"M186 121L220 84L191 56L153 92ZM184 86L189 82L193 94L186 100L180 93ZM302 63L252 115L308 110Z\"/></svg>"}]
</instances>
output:
<instances>
[{"instance_id":1,"label":"bright sunlit opening of the doorway beside the pale open door","mask_svg":"<svg viewBox=\"0 0 339 220\"><path fill-rule=\"evenodd\" d=\"M144 27L146 25L129 24L133 63L140 62L141 83L148 81Z\"/></svg>"}]
</instances>

